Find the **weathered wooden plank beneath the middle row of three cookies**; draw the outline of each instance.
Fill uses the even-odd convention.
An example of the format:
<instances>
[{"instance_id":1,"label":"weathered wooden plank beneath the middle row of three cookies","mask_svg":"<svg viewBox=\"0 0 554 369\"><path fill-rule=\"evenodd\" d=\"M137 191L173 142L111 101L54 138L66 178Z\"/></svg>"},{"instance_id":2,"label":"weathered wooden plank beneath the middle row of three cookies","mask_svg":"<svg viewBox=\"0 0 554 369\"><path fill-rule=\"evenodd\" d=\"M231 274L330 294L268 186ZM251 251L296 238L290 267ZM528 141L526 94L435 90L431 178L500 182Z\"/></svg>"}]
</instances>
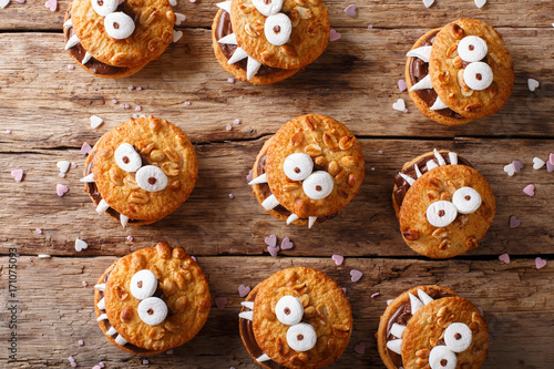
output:
<instances>
[{"instance_id":1,"label":"weathered wooden plank beneath the middle row of three cookies","mask_svg":"<svg viewBox=\"0 0 554 369\"><path fill-rule=\"evenodd\" d=\"M183 126L185 127L185 126ZM102 132L105 129L101 130ZM100 136L101 132L94 133ZM264 139L265 140L265 139ZM83 255L124 255L131 248L167 239L186 239L195 255L261 255L264 238L276 234L289 236L296 247L291 256L414 256L403 243L391 206L392 178L402 164L433 147L456 151L471 160L489 180L496 195L496 218L481 246L468 255L554 254L554 207L550 206L554 189L553 175L543 167L532 168L532 158L546 158L554 151L553 141L543 140L455 140L408 141L361 140L367 161L367 175L359 195L339 216L314 229L287 226L266 214L250 194L245 176L264 140L214 143L196 146L199 180L191 198L175 213L150 226L125 229L94 212L79 178L83 156L78 150L29 150L0 154L0 253L19 247L21 254L75 255L74 240L89 243ZM93 143L93 141L91 141ZM383 154L378 154L382 150ZM55 163L61 160L79 164L65 178L58 176ZM513 160L524 162L521 173L509 177L503 167ZM25 178L17 183L13 168L23 168ZM371 167L375 171L371 171ZM62 198L55 193L58 183L70 192ZM533 183L534 197L522 188ZM229 199L233 193L235 198ZM522 225L509 228L511 215ZM34 233L40 227L42 235ZM133 235L134 243L125 240Z\"/></svg>"}]
</instances>

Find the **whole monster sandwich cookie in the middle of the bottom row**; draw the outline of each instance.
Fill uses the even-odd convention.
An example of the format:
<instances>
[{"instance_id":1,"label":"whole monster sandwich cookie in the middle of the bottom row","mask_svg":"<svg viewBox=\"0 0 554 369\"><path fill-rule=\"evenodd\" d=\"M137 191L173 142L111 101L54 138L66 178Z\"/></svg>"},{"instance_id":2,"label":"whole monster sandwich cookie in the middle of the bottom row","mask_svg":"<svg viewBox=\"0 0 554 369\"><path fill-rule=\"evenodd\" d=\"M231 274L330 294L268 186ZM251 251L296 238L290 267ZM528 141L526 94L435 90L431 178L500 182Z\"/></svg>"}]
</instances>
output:
<instances>
[{"instance_id":1,"label":"whole monster sandwich cookie in the middle of the bottom row","mask_svg":"<svg viewBox=\"0 0 554 369\"><path fill-rule=\"evenodd\" d=\"M277 271L242 303L239 330L263 368L321 368L335 362L352 334L350 303L326 274L306 267Z\"/></svg>"}]
</instances>

